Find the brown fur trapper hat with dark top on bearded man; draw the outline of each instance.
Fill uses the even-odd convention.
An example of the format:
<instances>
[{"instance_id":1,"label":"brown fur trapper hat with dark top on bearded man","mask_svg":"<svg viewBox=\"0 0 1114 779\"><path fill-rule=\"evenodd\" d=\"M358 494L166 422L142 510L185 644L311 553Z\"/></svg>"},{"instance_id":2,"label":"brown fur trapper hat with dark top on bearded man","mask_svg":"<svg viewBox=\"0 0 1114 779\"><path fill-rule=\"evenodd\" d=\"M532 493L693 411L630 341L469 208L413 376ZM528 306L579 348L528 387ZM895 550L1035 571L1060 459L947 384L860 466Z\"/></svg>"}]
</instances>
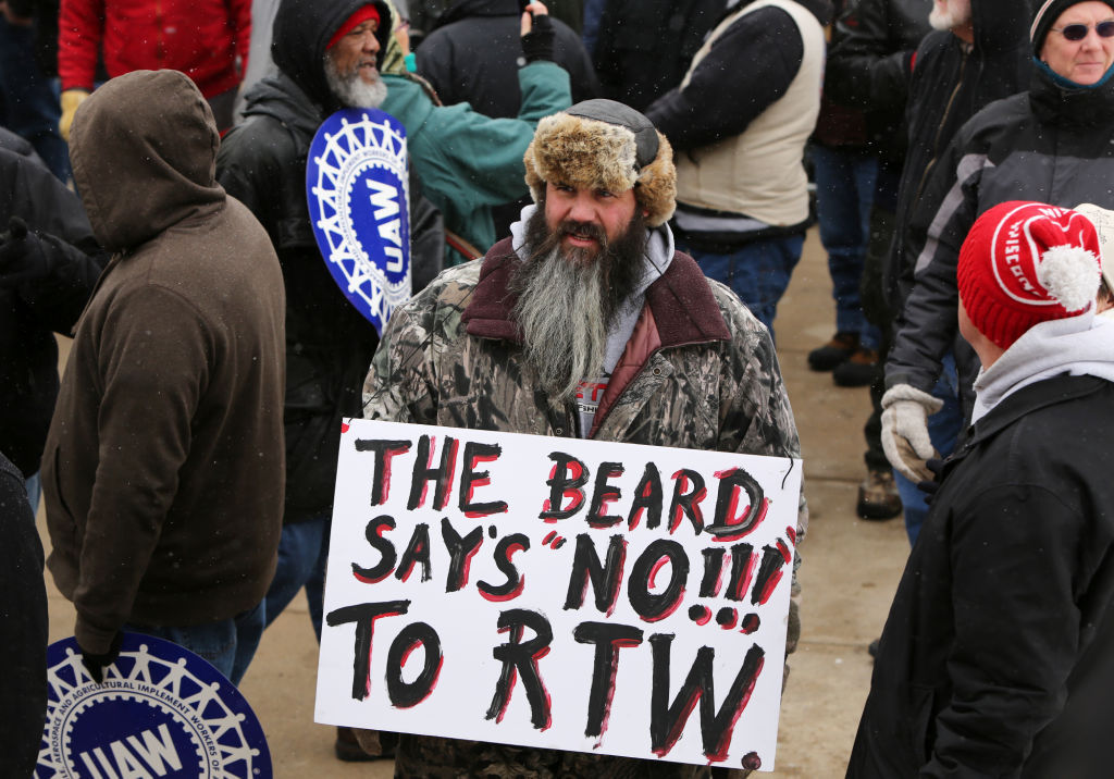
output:
<instances>
[{"instance_id":1,"label":"brown fur trapper hat with dark top on bearded man","mask_svg":"<svg viewBox=\"0 0 1114 779\"><path fill-rule=\"evenodd\" d=\"M673 149L649 119L614 100L585 100L538 123L526 149L526 183L535 203L545 183L626 192L646 212L646 224L664 224L676 207Z\"/></svg>"}]
</instances>

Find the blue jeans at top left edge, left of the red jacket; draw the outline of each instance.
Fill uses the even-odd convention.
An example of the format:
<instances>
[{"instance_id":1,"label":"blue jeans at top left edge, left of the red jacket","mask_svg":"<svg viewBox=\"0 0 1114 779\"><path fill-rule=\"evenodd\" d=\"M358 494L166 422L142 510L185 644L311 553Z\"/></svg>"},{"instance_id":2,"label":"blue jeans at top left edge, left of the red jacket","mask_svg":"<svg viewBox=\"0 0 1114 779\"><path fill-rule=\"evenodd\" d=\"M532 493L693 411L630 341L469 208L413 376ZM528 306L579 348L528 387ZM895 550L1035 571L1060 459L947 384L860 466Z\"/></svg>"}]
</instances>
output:
<instances>
[{"instance_id":1,"label":"blue jeans at top left edge, left of the red jacket","mask_svg":"<svg viewBox=\"0 0 1114 779\"><path fill-rule=\"evenodd\" d=\"M33 47L33 27L9 25L0 17L0 124L30 142L50 172L67 182L69 148L58 133L58 82L39 69Z\"/></svg>"}]
</instances>

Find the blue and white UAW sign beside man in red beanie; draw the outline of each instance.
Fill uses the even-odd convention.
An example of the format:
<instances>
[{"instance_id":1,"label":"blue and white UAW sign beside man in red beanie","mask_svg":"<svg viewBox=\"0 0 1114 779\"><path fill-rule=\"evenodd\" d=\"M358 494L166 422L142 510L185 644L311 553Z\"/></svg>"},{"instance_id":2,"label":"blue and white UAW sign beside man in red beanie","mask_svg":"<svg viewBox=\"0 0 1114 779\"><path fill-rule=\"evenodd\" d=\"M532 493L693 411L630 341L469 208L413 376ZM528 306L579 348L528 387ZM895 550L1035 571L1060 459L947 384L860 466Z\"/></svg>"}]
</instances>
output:
<instances>
[{"instance_id":1,"label":"blue and white UAW sign beside man in red beanie","mask_svg":"<svg viewBox=\"0 0 1114 779\"><path fill-rule=\"evenodd\" d=\"M333 280L380 333L410 298L409 191L398 119L344 108L317 129L305 166L313 233Z\"/></svg>"}]
</instances>

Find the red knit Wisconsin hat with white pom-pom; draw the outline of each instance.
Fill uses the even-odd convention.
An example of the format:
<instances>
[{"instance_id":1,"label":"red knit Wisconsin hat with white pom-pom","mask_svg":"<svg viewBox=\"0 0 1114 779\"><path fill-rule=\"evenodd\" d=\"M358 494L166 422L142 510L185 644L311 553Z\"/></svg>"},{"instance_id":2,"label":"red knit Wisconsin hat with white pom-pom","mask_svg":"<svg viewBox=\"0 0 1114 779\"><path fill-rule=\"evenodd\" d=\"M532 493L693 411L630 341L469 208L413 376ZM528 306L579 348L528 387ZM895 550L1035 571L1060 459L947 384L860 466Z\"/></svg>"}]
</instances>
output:
<instances>
[{"instance_id":1,"label":"red knit Wisconsin hat with white pom-pom","mask_svg":"<svg viewBox=\"0 0 1114 779\"><path fill-rule=\"evenodd\" d=\"M959 250L959 300L980 333L1009 349L1033 325L1095 305L1101 254L1079 212L1001 203L975 221Z\"/></svg>"}]
</instances>

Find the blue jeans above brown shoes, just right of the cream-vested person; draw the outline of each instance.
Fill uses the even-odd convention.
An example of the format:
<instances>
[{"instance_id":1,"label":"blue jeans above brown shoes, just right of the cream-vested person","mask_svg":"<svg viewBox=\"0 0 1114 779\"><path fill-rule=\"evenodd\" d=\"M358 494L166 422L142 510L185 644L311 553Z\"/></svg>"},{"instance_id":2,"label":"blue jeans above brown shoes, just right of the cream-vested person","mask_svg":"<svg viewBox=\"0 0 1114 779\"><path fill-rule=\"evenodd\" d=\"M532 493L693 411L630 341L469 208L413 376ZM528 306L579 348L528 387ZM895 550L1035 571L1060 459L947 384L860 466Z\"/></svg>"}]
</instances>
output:
<instances>
[{"instance_id":1,"label":"blue jeans above brown shoes, just right of the cream-vested person","mask_svg":"<svg viewBox=\"0 0 1114 779\"><path fill-rule=\"evenodd\" d=\"M828 252L828 272L836 299L836 330L857 333L868 349L878 349L878 328L862 313L859 284L870 241L870 210L874 202L878 157L861 150L813 145L817 216L820 243Z\"/></svg>"}]
</instances>

